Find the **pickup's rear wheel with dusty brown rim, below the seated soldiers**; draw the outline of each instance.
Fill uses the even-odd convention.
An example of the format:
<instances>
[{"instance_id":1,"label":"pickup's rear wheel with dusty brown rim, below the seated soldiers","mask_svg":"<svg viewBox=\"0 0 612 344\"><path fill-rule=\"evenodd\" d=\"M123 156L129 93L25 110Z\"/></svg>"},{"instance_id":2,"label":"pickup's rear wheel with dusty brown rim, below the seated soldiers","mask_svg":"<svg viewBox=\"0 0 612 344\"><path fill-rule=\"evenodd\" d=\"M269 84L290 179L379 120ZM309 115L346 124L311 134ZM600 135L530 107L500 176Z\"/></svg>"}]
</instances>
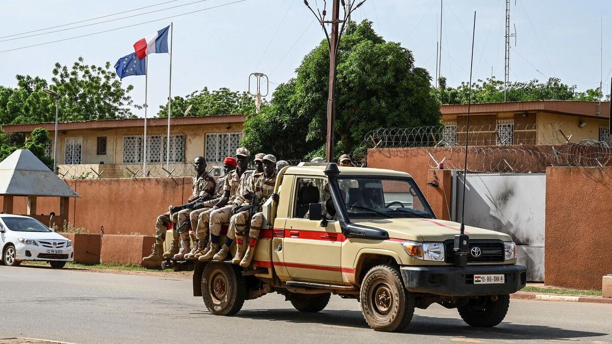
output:
<instances>
[{"instance_id":1,"label":"pickup's rear wheel with dusty brown rim, below the seated soldiers","mask_svg":"<svg viewBox=\"0 0 612 344\"><path fill-rule=\"evenodd\" d=\"M207 263L202 273L202 298L214 315L238 313L247 295L242 268L233 264Z\"/></svg>"}]
</instances>

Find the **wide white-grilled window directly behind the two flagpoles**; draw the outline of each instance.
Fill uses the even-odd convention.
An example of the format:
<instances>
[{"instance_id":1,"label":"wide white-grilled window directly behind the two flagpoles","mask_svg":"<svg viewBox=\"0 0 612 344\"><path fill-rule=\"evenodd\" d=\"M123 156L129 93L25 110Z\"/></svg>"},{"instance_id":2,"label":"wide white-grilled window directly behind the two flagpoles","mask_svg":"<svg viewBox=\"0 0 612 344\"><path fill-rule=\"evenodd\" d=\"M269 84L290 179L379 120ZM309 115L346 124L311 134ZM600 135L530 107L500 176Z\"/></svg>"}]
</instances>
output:
<instances>
[{"instance_id":1,"label":"wide white-grilled window directly behind the two flagpoles","mask_svg":"<svg viewBox=\"0 0 612 344\"><path fill-rule=\"evenodd\" d=\"M143 136L123 136L123 163L143 162ZM147 135L147 163L166 162L166 135ZM170 135L170 162L185 162L185 135Z\"/></svg>"}]
</instances>

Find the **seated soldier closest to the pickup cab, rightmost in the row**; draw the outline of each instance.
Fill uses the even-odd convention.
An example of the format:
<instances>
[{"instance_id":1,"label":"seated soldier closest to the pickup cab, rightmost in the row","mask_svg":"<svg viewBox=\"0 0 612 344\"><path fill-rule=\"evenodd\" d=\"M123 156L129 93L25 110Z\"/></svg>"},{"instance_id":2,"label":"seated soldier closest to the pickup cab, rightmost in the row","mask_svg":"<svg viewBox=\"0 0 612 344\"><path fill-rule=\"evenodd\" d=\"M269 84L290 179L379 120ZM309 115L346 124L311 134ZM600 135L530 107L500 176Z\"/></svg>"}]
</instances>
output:
<instances>
[{"instance_id":1,"label":"seated soldier closest to the pickup cab, rightmost in the row","mask_svg":"<svg viewBox=\"0 0 612 344\"><path fill-rule=\"evenodd\" d=\"M241 211L233 215L230 221L230 230L228 235L233 233L232 236L236 237L236 255L232 260L234 264L240 264L242 267L248 267L253 260L253 253L255 252L255 245L259 239L259 231L261 230L261 224L264 220L264 214L261 212L261 206L266 202L267 198L272 197L274 201L278 201L278 195L274 193L274 186L276 184L276 157L272 154L267 154L263 159L264 172L255 174L251 180L248 188L248 198L252 198L252 194L257 195L257 204L252 204L256 207L256 214L251 219L251 228L248 231L248 248L247 252L244 253L244 239L247 234L246 223L248 220L249 211ZM246 203L248 204L248 203ZM215 260L225 260L228 252L221 250L217 255L214 256Z\"/></svg>"}]
</instances>

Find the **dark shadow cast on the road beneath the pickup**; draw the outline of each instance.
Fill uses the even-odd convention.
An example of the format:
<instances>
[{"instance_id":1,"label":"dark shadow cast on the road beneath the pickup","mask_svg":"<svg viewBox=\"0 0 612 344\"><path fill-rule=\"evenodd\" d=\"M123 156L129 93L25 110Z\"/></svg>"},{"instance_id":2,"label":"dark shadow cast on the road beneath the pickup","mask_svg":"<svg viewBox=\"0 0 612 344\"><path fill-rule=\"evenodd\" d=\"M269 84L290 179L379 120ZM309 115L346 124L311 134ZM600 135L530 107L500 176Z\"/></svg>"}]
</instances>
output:
<instances>
[{"instance_id":1,"label":"dark shadow cast on the road beneath the pickup","mask_svg":"<svg viewBox=\"0 0 612 344\"><path fill-rule=\"evenodd\" d=\"M327 326L343 326L369 329L360 311L324 310L321 313L300 313L290 309L243 310L237 318L254 320L286 321L288 323L310 323ZM435 318L415 315L410 326L403 333L434 335L436 337L465 336L477 339L507 340L565 340L569 338L600 337L605 333L575 331L553 326L524 325L501 323L496 327L482 328L466 325L463 320L453 318Z\"/></svg>"}]
</instances>

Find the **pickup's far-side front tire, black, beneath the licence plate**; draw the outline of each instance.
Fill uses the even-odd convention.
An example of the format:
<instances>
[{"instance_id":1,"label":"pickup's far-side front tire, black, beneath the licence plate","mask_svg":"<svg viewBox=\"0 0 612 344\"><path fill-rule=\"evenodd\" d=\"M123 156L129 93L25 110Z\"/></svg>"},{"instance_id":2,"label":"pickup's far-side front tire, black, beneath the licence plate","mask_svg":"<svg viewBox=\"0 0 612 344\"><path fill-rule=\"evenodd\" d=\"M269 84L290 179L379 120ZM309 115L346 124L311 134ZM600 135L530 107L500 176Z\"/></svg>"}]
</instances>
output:
<instances>
[{"instance_id":1,"label":"pickup's far-side front tire, black, beneath the licence plate","mask_svg":"<svg viewBox=\"0 0 612 344\"><path fill-rule=\"evenodd\" d=\"M510 306L510 295L498 295L496 301L491 296L471 299L467 304L458 307L461 319L469 326L493 327L506 318Z\"/></svg>"}]
</instances>

